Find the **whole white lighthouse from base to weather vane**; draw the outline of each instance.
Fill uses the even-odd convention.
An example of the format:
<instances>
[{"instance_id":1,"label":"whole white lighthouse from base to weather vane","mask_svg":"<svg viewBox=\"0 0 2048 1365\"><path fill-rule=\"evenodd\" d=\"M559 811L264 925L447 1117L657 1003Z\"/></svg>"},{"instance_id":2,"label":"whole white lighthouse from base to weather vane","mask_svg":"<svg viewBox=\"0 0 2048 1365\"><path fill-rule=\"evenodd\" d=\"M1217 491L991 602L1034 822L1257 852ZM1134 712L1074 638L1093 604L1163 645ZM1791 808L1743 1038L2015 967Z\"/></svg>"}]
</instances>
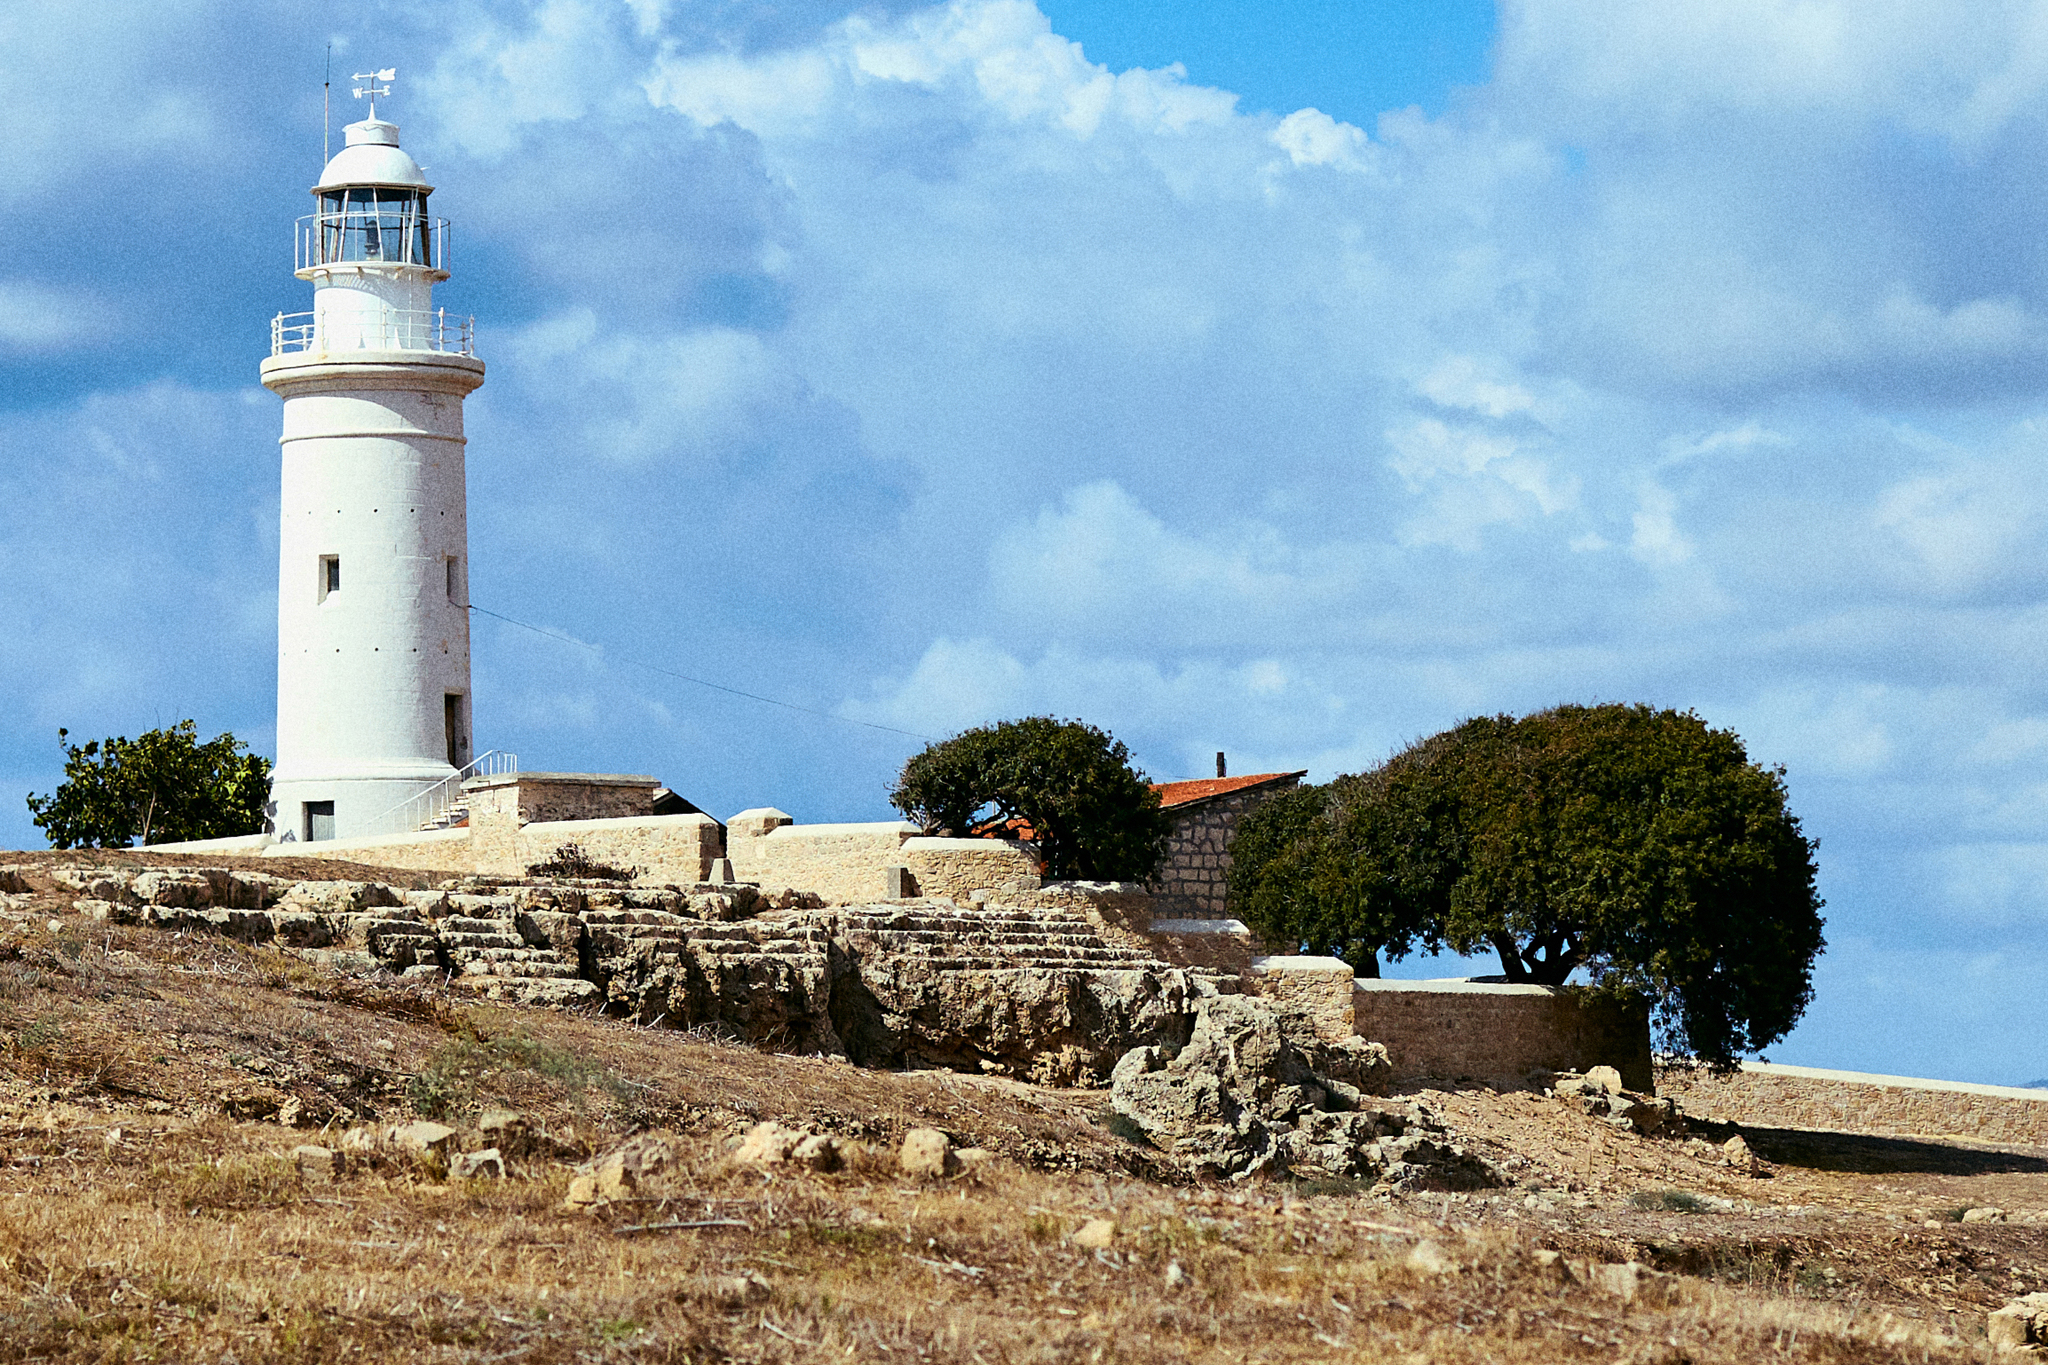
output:
<instances>
[{"instance_id":1,"label":"whole white lighthouse from base to weather vane","mask_svg":"<svg viewBox=\"0 0 2048 1365\"><path fill-rule=\"evenodd\" d=\"M313 311L270 325L262 383L285 399L276 573L281 839L397 833L469 749L469 522L463 397L471 323L432 307L449 223L377 117L313 186L295 266Z\"/></svg>"}]
</instances>

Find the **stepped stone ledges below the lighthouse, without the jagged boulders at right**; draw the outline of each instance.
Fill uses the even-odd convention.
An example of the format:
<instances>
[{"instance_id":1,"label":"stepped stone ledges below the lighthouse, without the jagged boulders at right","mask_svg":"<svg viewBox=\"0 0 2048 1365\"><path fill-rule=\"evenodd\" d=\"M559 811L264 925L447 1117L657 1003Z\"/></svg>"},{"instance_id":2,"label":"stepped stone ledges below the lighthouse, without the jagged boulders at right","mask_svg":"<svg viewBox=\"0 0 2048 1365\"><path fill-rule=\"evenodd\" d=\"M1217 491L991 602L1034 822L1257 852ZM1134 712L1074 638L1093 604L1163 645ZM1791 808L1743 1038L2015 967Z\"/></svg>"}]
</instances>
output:
<instances>
[{"instance_id":1,"label":"stepped stone ledges below the lighthouse, without the jagged boulders at right","mask_svg":"<svg viewBox=\"0 0 2048 1365\"><path fill-rule=\"evenodd\" d=\"M713 1027L866 1066L1090 1085L1178 1048L1233 988L1106 937L1071 907L897 900L823 909L745 884L461 878L434 890L225 870L68 868L78 909L205 929L338 970L432 976L483 999Z\"/></svg>"}]
</instances>

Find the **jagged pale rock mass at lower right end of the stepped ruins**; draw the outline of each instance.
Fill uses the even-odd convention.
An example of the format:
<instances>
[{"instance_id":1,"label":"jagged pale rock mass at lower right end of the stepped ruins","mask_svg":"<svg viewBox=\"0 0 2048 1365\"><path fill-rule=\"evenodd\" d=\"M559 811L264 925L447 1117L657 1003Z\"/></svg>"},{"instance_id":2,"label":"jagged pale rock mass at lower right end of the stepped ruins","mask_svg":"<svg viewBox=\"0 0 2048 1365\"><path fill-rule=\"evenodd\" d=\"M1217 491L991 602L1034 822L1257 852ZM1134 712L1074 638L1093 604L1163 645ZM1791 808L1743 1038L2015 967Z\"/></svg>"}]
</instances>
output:
<instances>
[{"instance_id":1,"label":"jagged pale rock mass at lower right end of the stepped ruins","mask_svg":"<svg viewBox=\"0 0 2048 1365\"><path fill-rule=\"evenodd\" d=\"M1374 1099L1386 1070L1376 1044L1305 1050L1264 1001L1217 995L1196 1001L1184 1048L1133 1048L1112 1072L1110 1097L1200 1175L1319 1171L1403 1191L1503 1183L1425 1107Z\"/></svg>"}]
</instances>

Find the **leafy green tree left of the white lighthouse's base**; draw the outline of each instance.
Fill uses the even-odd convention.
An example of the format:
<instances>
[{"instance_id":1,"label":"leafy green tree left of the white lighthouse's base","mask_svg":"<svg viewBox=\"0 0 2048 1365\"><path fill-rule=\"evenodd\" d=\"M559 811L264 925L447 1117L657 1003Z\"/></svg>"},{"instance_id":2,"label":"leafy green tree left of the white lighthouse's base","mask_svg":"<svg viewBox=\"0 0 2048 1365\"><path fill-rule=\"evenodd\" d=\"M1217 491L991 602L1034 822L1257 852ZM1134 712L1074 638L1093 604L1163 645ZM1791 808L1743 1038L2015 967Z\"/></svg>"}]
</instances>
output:
<instances>
[{"instance_id":1,"label":"leafy green tree left of the white lighthouse's base","mask_svg":"<svg viewBox=\"0 0 2048 1365\"><path fill-rule=\"evenodd\" d=\"M233 735L199 743L199 726L180 720L139 739L68 745L68 737L57 731L63 782L49 796L29 796L53 849L225 839L264 827L270 759Z\"/></svg>"}]
</instances>

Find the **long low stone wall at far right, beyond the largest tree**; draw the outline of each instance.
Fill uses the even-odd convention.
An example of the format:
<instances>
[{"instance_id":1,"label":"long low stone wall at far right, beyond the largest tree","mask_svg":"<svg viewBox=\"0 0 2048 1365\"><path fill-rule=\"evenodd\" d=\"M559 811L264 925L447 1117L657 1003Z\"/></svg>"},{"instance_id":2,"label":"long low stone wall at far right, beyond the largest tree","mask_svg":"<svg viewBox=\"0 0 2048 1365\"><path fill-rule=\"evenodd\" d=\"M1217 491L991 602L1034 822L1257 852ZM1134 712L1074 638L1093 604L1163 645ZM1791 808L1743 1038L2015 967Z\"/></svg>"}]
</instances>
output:
<instances>
[{"instance_id":1,"label":"long low stone wall at far right, beyond the largest tree","mask_svg":"<svg viewBox=\"0 0 2048 1365\"><path fill-rule=\"evenodd\" d=\"M1686 1113L1751 1128L2048 1146L2048 1091L1743 1062L1729 1076L1661 1066L1657 1093Z\"/></svg>"}]
</instances>

